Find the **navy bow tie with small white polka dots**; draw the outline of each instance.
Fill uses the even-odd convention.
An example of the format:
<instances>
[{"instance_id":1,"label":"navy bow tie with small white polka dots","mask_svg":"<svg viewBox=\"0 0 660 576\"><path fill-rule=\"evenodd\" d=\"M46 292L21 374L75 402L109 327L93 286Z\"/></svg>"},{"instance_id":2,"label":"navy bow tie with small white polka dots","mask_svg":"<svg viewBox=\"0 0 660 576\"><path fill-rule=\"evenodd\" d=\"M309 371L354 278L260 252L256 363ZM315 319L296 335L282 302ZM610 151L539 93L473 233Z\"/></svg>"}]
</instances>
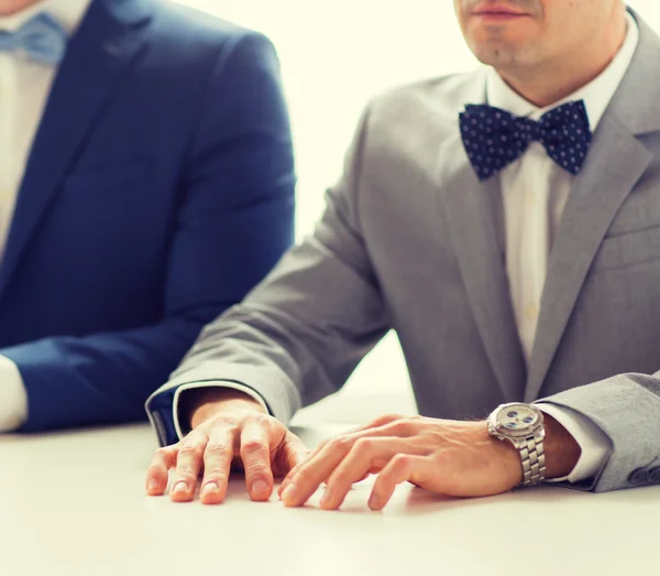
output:
<instances>
[{"instance_id":1,"label":"navy bow tie with small white polka dots","mask_svg":"<svg viewBox=\"0 0 660 576\"><path fill-rule=\"evenodd\" d=\"M468 105L460 123L463 145L481 181L518 160L535 141L546 148L557 164L576 175L592 141L582 100L558 106L538 122L492 106Z\"/></svg>"}]
</instances>

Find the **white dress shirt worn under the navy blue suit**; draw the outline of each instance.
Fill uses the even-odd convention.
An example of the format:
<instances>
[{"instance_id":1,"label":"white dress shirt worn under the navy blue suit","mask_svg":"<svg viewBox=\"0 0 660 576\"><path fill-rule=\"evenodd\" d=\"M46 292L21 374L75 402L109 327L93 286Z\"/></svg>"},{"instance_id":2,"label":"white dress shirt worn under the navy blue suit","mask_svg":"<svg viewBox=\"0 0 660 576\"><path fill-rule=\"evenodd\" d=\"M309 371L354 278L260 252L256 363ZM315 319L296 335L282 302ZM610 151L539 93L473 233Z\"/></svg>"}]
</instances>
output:
<instances>
[{"instance_id":1,"label":"white dress shirt worn under the navy blue suit","mask_svg":"<svg viewBox=\"0 0 660 576\"><path fill-rule=\"evenodd\" d=\"M72 35L90 1L42 0L0 17L0 31L14 32L37 13L47 12ZM35 63L21 52L0 51L0 265L32 141L56 72L56 66ZM0 356L0 432L18 428L26 415L28 398L19 369Z\"/></svg>"}]
</instances>

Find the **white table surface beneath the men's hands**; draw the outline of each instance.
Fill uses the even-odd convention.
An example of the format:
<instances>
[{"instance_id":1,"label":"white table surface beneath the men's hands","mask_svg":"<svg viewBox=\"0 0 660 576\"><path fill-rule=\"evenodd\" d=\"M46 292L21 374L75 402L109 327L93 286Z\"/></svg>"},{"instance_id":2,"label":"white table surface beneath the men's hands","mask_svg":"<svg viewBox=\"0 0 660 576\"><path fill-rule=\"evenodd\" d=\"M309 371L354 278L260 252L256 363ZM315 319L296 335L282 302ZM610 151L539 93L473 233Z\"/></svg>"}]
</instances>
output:
<instances>
[{"instance_id":1,"label":"white table surface beneath the men's hands","mask_svg":"<svg viewBox=\"0 0 660 576\"><path fill-rule=\"evenodd\" d=\"M392 409L414 406L343 394L301 413L297 432L314 444ZM314 424L323 421L342 424ZM369 480L339 512L320 510L319 496L302 509L253 503L233 480L224 504L174 504L143 493L154 448L143 425L0 437L0 574L660 574L660 488L447 500L403 486L375 513Z\"/></svg>"}]
</instances>

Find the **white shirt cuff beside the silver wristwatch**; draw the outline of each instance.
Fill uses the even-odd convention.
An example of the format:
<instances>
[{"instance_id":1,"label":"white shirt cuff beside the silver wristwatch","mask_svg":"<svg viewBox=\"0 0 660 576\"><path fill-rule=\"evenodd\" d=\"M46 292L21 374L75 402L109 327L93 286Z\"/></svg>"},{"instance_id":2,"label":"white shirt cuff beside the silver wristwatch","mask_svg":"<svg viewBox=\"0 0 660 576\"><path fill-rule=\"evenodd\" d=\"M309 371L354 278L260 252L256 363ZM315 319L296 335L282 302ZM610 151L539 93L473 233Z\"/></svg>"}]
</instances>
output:
<instances>
[{"instance_id":1,"label":"white shirt cuff beside the silver wristwatch","mask_svg":"<svg viewBox=\"0 0 660 576\"><path fill-rule=\"evenodd\" d=\"M581 454L578 464L569 476L553 478L549 482L571 483L593 478L605 464L612 449L608 436L590 419L570 407L539 403L537 407L559 422L580 445Z\"/></svg>"}]
</instances>

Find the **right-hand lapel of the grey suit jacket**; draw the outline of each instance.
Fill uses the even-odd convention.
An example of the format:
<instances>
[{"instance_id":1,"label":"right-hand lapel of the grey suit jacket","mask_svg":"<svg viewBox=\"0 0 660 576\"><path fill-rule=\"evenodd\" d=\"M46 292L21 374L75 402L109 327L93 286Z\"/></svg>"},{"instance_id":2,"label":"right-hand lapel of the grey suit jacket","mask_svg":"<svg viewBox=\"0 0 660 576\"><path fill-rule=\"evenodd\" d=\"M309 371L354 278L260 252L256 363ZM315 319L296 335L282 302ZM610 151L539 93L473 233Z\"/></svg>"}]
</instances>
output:
<instances>
[{"instance_id":1,"label":"right-hand lapel of the grey suit jacket","mask_svg":"<svg viewBox=\"0 0 660 576\"><path fill-rule=\"evenodd\" d=\"M660 81L648 70L660 57L660 39L634 13L640 44L596 132L575 180L550 254L525 400L539 396L584 280L607 230L651 154L636 135L660 129ZM642 86L644 88L640 88Z\"/></svg>"}]
</instances>

